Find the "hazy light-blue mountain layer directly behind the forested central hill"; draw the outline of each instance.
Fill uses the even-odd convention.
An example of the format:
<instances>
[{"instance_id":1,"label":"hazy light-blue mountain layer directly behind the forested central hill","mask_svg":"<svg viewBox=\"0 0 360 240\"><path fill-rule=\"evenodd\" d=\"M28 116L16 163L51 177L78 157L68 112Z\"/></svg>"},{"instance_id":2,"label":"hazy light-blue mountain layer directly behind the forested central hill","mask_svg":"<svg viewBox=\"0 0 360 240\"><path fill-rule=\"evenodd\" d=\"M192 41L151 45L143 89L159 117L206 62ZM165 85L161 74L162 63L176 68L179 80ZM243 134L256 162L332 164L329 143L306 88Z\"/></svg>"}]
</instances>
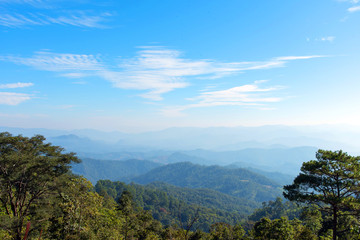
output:
<instances>
[{"instance_id":1,"label":"hazy light-blue mountain layer directly behind the forested central hill","mask_svg":"<svg viewBox=\"0 0 360 240\"><path fill-rule=\"evenodd\" d=\"M96 148L96 147L94 147ZM299 173L301 164L314 159L317 148L273 148L243 149L238 151L209 151L203 149L191 151L148 151L148 152L108 152L84 153L83 158L127 160L142 159L158 163L192 162L202 165L227 166L232 164L241 168L254 168L265 172L279 172L292 177Z\"/></svg>"}]
</instances>

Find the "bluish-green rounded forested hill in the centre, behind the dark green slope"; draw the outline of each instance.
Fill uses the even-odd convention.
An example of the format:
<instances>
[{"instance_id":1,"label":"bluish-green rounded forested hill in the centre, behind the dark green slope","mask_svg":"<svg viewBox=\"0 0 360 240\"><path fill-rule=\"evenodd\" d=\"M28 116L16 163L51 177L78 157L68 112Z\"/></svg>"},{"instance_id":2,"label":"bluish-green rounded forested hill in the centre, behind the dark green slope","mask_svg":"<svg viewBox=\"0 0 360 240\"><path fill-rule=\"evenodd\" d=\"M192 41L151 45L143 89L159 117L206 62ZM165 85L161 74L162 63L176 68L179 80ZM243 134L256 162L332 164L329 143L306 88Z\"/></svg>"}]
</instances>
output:
<instances>
[{"instance_id":1,"label":"bluish-green rounded forested hill in the centre, behind the dark green slope","mask_svg":"<svg viewBox=\"0 0 360 240\"><path fill-rule=\"evenodd\" d=\"M281 195L280 185L249 170L200 166L189 162L169 164L132 178L140 184L165 182L189 188L208 188L232 196L263 202Z\"/></svg>"}]
</instances>

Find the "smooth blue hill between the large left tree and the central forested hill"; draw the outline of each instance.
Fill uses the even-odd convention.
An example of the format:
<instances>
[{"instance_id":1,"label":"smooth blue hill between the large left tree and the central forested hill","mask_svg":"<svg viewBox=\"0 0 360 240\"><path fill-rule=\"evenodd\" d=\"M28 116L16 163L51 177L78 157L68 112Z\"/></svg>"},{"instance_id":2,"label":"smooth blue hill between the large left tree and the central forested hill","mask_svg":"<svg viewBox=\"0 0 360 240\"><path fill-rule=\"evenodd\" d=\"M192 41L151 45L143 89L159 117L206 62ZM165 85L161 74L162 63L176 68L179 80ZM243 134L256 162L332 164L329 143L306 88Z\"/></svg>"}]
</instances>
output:
<instances>
[{"instance_id":1,"label":"smooth blue hill between the large left tree and the central forested hill","mask_svg":"<svg viewBox=\"0 0 360 240\"><path fill-rule=\"evenodd\" d=\"M160 163L136 159L114 161L84 158L81 163L72 165L72 172L84 176L95 184L103 179L111 181L128 179L160 166Z\"/></svg>"}]
</instances>

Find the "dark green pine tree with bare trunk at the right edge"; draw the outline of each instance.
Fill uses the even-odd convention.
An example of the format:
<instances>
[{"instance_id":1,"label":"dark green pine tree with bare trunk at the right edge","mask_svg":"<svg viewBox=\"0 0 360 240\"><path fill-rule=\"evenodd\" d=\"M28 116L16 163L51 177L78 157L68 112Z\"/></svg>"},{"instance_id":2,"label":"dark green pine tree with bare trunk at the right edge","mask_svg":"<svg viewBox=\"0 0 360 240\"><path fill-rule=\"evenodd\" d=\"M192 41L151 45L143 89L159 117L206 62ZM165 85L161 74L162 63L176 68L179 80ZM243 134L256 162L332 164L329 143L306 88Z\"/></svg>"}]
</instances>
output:
<instances>
[{"instance_id":1,"label":"dark green pine tree with bare trunk at the right edge","mask_svg":"<svg viewBox=\"0 0 360 240\"><path fill-rule=\"evenodd\" d=\"M338 219L356 215L360 206L360 157L343 151L318 150L317 160L303 163L293 184L284 187L285 198L314 203L332 216L333 239L338 236Z\"/></svg>"}]
</instances>

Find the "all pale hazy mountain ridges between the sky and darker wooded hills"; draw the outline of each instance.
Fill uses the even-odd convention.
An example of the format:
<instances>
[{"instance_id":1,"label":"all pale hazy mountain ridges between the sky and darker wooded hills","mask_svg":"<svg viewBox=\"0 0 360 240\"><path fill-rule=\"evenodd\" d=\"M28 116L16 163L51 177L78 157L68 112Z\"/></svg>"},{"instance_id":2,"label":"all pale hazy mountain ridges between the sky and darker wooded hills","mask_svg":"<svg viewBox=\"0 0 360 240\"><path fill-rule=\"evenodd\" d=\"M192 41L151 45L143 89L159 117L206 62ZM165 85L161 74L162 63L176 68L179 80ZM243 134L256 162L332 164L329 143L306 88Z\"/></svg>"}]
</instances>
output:
<instances>
[{"instance_id":1,"label":"all pale hazy mountain ridges between the sky and darker wooded hills","mask_svg":"<svg viewBox=\"0 0 360 240\"><path fill-rule=\"evenodd\" d=\"M76 152L81 158L149 160L158 163L190 161L203 165L230 165L297 175L302 162L314 158L318 148L351 151L343 140L360 139L349 129L328 126L169 128L127 134L98 130L51 130L0 127L0 131L33 136L42 134L53 145ZM358 138L357 138L358 137ZM333 140L341 140L336 143ZM348 141L349 142L349 141ZM352 141L357 144L357 141ZM292 147L292 146L297 147ZM253 146L252 148L249 148ZM254 148L256 146L256 148ZM309 146L309 147L304 147ZM195 149L195 150L194 150ZM226 149L226 151L221 151ZM356 154L355 154L356 155Z\"/></svg>"}]
</instances>

